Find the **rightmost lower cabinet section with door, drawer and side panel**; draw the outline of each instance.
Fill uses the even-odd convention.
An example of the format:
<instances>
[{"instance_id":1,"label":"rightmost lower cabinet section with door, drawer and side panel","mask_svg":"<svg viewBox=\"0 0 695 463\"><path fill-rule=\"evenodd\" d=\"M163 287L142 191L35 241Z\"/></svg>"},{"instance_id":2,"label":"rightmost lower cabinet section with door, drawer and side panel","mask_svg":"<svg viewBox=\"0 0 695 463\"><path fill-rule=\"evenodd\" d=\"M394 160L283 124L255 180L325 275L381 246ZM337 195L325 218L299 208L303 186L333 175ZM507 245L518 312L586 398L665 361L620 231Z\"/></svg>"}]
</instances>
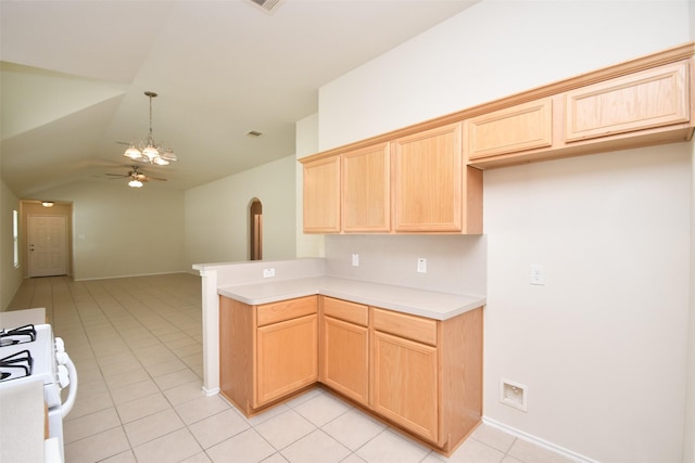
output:
<instances>
[{"instance_id":1,"label":"rightmost lower cabinet section with door, drawer and side panel","mask_svg":"<svg viewBox=\"0 0 695 463\"><path fill-rule=\"evenodd\" d=\"M482 415L482 307L445 321L371 308L371 408L444 454Z\"/></svg>"}]
</instances>

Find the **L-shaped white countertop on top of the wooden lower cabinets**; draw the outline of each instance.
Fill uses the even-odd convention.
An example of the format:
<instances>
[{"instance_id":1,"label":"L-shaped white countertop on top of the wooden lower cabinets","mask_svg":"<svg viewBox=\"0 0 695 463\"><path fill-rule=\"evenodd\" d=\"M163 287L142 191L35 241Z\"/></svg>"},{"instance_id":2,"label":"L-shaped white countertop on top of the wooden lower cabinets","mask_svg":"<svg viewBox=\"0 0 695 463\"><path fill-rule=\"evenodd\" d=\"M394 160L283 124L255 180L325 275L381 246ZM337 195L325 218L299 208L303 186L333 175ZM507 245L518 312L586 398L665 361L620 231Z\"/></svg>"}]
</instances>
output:
<instances>
[{"instance_id":1,"label":"L-shaped white countertop on top of the wooden lower cabinets","mask_svg":"<svg viewBox=\"0 0 695 463\"><path fill-rule=\"evenodd\" d=\"M268 279L263 283L219 287L217 293L252 306L320 294L434 320L447 320L485 305L482 296L439 293L333 276Z\"/></svg>"}]
</instances>

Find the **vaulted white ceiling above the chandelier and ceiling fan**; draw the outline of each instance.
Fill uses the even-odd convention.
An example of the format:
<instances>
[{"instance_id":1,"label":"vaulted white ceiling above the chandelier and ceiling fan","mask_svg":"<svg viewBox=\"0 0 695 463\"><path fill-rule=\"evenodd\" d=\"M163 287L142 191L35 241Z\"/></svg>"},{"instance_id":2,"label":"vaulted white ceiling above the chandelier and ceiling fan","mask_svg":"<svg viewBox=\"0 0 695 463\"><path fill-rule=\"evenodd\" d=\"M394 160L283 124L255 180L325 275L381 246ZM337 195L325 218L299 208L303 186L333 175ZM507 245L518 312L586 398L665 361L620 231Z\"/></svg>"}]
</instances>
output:
<instances>
[{"instance_id":1,"label":"vaulted white ceiling above the chandelier and ceiling fan","mask_svg":"<svg viewBox=\"0 0 695 463\"><path fill-rule=\"evenodd\" d=\"M318 88L478 0L0 1L0 175L17 197L113 182L149 131L186 190L294 154ZM250 137L249 131L263 133ZM124 188L125 179L123 180Z\"/></svg>"}]
</instances>

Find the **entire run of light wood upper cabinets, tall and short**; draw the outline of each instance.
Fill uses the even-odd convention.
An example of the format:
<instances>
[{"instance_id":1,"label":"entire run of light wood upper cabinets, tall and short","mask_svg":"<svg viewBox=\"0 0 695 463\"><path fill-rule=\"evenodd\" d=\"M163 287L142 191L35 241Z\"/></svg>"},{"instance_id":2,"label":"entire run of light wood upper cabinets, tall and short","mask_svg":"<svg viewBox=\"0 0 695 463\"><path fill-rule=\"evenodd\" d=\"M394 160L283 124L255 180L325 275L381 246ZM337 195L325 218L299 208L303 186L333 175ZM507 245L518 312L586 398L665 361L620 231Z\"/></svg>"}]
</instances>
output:
<instances>
[{"instance_id":1,"label":"entire run of light wood upper cabinets, tall and short","mask_svg":"<svg viewBox=\"0 0 695 463\"><path fill-rule=\"evenodd\" d=\"M304 232L482 233L483 169L691 140L694 55L686 43L301 159Z\"/></svg>"}]
</instances>

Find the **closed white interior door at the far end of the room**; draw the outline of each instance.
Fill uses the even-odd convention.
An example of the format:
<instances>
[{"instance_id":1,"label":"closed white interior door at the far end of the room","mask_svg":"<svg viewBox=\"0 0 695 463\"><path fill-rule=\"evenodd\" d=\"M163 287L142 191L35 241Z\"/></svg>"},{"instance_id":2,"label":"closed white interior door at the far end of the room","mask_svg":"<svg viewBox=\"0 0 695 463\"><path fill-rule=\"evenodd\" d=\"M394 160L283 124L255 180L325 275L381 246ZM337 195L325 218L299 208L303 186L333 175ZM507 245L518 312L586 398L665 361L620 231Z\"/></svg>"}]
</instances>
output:
<instances>
[{"instance_id":1,"label":"closed white interior door at the far end of the room","mask_svg":"<svg viewBox=\"0 0 695 463\"><path fill-rule=\"evenodd\" d=\"M29 276L67 274L67 218L29 216Z\"/></svg>"}]
</instances>

